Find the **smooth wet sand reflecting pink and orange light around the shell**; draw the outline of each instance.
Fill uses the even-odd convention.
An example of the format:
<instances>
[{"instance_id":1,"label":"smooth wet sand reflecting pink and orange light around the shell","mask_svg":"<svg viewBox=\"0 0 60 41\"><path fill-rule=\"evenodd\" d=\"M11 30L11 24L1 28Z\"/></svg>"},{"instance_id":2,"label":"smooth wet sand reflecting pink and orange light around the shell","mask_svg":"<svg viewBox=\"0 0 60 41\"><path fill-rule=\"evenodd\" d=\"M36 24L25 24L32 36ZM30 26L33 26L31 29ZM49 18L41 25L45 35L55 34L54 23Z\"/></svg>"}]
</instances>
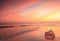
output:
<instances>
[{"instance_id":1,"label":"smooth wet sand reflecting pink and orange light around the shell","mask_svg":"<svg viewBox=\"0 0 60 41\"><path fill-rule=\"evenodd\" d=\"M36 29L37 27L39 27L39 29ZM26 27L2 28L0 29L0 41L52 41L45 40L44 37L44 33L50 29L52 29L56 35L54 41L59 41L60 27L54 26L26 26ZM24 33L24 31L29 32Z\"/></svg>"}]
</instances>

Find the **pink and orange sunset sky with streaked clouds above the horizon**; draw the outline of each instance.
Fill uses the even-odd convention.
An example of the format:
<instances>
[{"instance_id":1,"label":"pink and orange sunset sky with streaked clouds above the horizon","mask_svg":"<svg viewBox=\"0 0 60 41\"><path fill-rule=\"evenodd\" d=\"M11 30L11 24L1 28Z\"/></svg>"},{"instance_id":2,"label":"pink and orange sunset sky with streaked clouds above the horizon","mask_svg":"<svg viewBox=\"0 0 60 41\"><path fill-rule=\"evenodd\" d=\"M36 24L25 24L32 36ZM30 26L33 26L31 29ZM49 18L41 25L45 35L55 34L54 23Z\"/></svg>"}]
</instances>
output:
<instances>
[{"instance_id":1,"label":"pink and orange sunset sky with streaked clouds above the horizon","mask_svg":"<svg viewBox=\"0 0 60 41\"><path fill-rule=\"evenodd\" d=\"M60 22L60 1L20 0L2 4L0 23Z\"/></svg>"}]
</instances>

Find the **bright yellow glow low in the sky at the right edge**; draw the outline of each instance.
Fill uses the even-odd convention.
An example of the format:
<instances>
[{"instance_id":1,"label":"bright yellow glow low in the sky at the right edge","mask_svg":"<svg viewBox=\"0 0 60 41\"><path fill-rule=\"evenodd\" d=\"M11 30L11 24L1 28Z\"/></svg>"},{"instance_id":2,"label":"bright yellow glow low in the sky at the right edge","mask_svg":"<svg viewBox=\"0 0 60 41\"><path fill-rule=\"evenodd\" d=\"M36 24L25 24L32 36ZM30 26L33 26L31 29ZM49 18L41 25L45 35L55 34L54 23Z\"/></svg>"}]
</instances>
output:
<instances>
[{"instance_id":1,"label":"bright yellow glow low in the sky at the right edge","mask_svg":"<svg viewBox=\"0 0 60 41\"><path fill-rule=\"evenodd\" d=\"M42 18L44 21L60 21L60 10L51 12Z\"/></svg>"}]
</instances>

